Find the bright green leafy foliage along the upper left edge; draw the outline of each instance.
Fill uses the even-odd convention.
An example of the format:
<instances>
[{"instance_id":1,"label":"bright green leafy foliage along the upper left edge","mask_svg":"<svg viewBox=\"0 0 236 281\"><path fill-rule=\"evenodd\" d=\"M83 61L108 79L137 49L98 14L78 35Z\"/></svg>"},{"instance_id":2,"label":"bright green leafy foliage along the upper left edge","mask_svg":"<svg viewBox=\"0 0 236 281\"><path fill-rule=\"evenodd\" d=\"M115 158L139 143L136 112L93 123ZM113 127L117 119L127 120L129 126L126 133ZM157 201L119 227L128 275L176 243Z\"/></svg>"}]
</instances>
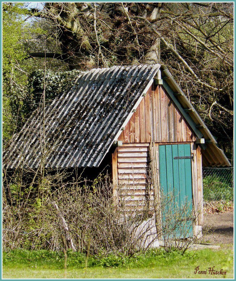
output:
<instances>
[{"instance_id":1,"label":"bright green leafy foliage along the upper left edge","mask_svg":"<svg viewBox=\"0 0 236 281\"><path fill-rule=\"evenodd\" d=\"M29 13L25 3L3 3L3 141L22 124L21 106L30 71L26 43L32 32L40 32L25 21Z\"/></svg>"}]
</instances>

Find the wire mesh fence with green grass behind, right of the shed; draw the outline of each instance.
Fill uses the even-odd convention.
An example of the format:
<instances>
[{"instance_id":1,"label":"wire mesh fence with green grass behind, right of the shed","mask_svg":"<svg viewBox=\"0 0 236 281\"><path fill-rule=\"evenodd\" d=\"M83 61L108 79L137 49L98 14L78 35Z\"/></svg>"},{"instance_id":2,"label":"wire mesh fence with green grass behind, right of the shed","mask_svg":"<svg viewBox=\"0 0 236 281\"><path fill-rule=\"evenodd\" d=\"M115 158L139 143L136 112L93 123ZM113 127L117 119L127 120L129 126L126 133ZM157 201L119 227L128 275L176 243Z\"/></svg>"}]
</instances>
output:
<instances>
[{"instance_id":1,"label":"wire mesh fence with green grass behind, right of the shed","mask_svg":"<svg viewBox=\"0 0 236 281\"><path fill-rule=\"evenodd\" d=\"M233 168L203 168L203 201L233 201Z\"/></svg>"}]
</instances>

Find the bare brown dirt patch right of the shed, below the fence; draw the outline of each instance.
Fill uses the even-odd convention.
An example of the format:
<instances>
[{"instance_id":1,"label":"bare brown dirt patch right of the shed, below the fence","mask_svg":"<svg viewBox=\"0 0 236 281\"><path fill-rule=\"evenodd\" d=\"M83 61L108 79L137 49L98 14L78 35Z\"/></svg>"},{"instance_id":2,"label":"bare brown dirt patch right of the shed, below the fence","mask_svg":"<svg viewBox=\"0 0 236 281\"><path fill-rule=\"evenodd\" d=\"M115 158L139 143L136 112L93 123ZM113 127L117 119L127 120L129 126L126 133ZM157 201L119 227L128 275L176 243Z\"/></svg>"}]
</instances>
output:
<instances>
[{"instance_id":1,"label":"bare brown dirt patch right of the shed, below the fence","mask_svg":"<svg viewBox=\"0 0 236 281\"><path fill-rule=\"evenodd\" d=\"M204 212L202 242L233 244L233 211Z\"/></svg>"}]
</instances>

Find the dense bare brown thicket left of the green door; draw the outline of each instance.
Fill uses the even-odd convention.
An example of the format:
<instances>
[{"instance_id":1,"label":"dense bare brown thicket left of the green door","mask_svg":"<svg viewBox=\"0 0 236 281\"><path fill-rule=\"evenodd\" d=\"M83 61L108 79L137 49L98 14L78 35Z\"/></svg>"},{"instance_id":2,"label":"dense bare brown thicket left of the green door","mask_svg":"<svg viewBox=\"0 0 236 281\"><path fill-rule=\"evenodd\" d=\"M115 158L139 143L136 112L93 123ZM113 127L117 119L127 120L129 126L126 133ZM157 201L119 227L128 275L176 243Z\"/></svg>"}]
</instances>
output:
<instances>
[{"instance_id":1,"label":"dense bare brown thicket left of the green door","mask_svg":"<svg viewBox=\"0 0 236 281\"><path fill-rule=\"evenodd\" d=\"M114 205L113 185L107 175L100 175L92 183L79 177L63 184L60 178L56 189L55 177L44 176L34 194L31 189L32 196L21 198L21 205L17 200L10 203L9 184L4 187L8 197L3 209L4 250L72 248L86 252L89 240L94 255L130 255L144 245L148 248L141 237L145 236L142 229L147 231L150 226L144 223L140 229L144 211L134 216L123 206ZM43 197L38 198L38 190L44 190Z\"/></svg>"}]
</instances>

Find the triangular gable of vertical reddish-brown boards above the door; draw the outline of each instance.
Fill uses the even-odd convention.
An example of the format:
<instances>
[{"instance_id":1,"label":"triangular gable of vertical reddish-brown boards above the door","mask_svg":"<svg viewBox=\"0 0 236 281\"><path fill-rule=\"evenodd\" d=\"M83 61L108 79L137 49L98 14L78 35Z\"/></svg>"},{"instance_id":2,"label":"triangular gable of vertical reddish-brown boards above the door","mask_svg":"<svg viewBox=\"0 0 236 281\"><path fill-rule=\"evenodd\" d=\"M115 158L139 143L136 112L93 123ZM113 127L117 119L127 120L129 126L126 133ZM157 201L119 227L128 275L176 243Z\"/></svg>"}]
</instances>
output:
<instances>
[{"instance_id":1,"label":"triangular gable of vertical reddish-brown boards above the door","mask_svg":"<svg viewBox=\"0 0 236 281\"><path fill-rule=\"evenodd\" d=\"M139 142L192 142L196 137L163 86L152 86L118 140Z\"/></svg>"}]
</instances>

